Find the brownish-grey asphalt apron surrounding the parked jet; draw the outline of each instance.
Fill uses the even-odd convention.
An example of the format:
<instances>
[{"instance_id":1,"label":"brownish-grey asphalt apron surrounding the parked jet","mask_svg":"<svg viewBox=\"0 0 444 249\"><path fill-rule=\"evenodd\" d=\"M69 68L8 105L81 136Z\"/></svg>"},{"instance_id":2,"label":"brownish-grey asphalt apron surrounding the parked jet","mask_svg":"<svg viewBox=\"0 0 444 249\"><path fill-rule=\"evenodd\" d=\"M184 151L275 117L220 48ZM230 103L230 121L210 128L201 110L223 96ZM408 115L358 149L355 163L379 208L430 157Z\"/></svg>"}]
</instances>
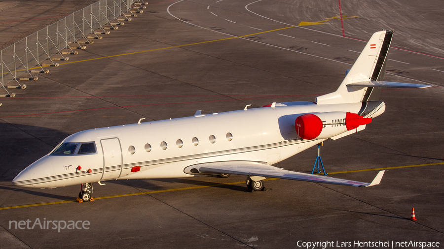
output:
<instances>
[{"instance_id":1,"label":"brownish-grey asphalt apron surrounding the parked jet","mask_svg":"<svg viewBox=\"0 0 444 249\"><path fill-rule=\"evenodd\" d=\"M443 247L443 1L353 0L341 11L338 1L148 3L118 30L36 74L15 97L0 99L1 248ZM12 39L26 29L19 24L2 27L0 36ZM234 175L119 180L94 185L95 201L76 203L79 186L11 183L81 130L314 101L336 90L381 29L395 30L384 80L434 87L384 90L384 114L321 148L329 176L369 182L386 169L378 186L270 179L267 191L251 193L245 177ZM313 147L275 166L311 173L316 156ZM14 226L37 218L84 226Z\"/></svg>"}]
</instances>

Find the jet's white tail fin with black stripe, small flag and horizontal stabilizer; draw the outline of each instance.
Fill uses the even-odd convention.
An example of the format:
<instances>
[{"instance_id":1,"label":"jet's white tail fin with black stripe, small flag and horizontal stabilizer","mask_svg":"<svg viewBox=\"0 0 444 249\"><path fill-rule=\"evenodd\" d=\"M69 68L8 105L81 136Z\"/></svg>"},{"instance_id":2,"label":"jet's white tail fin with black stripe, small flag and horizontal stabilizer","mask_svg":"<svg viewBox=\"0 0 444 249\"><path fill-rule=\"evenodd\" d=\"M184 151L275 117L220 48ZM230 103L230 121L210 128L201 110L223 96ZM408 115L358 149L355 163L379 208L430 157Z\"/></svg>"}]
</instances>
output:
<instances>
[{"instance_id":1,"label":"jet's white tail fin with black stripe, small flag and horizontal stabilizer","mask_svg":"<svg viewBox=\"0 0 444 249\"><path fill-rule=\"evenodd\" d=\"M426 88L432 85L382 81L393 31L375 32L339 88L316 98L317 104L370 102L379 99L381 88Z\"/></svg>"}]
</instances>

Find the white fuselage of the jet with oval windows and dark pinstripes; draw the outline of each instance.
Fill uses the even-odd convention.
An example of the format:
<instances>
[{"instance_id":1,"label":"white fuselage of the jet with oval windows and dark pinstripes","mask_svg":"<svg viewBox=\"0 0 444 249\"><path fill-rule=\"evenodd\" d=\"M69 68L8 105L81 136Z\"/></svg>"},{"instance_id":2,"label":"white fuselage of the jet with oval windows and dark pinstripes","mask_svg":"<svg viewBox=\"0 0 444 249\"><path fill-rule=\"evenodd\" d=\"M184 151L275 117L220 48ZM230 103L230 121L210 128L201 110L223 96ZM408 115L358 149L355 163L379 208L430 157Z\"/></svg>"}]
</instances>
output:
<instances>
[{"instance_id":1,"label":"white fuselage of the jet with oval windows and dark pinstripes","mask_svg":"<svg viewBox=\"0 0 444 249\"><path fill-rule=\"evenodd\" d=\"M13 183L24 187L62 187L111 179L192 177L184 169L205 162L245 160L274 164L325 140L298 138L298 116L357 113L361 107L362 103L293 102L288 106L80 131L63 143L94 143L95 153L78 154L79 146L71 155L50 153L23 170Z\"/></svg>"}]
</instances>

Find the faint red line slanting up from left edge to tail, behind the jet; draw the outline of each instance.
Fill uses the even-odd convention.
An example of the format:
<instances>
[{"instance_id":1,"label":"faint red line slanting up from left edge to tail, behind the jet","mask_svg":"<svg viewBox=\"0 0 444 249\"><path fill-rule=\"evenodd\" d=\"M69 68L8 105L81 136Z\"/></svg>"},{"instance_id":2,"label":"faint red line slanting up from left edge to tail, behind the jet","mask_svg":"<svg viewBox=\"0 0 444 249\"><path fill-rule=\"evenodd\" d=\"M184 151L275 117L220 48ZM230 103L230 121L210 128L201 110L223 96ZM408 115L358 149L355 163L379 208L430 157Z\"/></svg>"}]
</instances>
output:
<instances>
[{"instance_id":1,"label":"faint red line slanting up from left edge to tail, behind the jet","mask_svg":"<svg viewBox=\"0 0 444 249\"><path fill-rule=\"evenodd\" d=\"M3 119L3 118L16 118L16 117L27 117L27 116L37 116L37 115L48 115L48 114L59 114L59 113L70 113L70 112L97 111L97 110L116 109L116 108L155 106L155 105L178 105L178 104L208 103L208 102L221 102L221 101L233 101L233 100L248 100L248 99L275 98L275 97L318 96L318 95L319 94L284 95L284 96L271 96L271 97L258 97L258 98L241 98L241 99L192 101L192 102L182 102L182 103L163 103L163 104L148 104L148 105L113 106L113 107L103 107L103 108L84 109L84 110L72 110L72 111L63 111L63 112L48 112L48 113L24 114L24 115L16 115L16 116L5 116L5 117L0 117L0 119Z\"/></svg>"}]
</instances>

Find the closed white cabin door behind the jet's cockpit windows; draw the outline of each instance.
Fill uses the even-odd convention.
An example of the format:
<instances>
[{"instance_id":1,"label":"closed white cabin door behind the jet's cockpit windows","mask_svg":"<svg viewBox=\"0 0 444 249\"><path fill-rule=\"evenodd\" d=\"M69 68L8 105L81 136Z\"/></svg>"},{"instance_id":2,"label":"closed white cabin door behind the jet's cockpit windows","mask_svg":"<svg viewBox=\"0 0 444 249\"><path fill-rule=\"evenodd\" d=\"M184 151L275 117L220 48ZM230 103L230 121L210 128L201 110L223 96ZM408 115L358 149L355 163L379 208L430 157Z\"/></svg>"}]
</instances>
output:
<instances>
[{"instance_id":1,"label":"closed white cabin door behind the jet's cockpit windows","mask_svg":"<svg viewBox=\"0 0 444 249\"><path fill-rule=\"evenodd\" d=\"M122 172L122 148L118 138L100 140L103 152L103 174L101 181L118 178Z\"/></svg>"}]
</instances>

